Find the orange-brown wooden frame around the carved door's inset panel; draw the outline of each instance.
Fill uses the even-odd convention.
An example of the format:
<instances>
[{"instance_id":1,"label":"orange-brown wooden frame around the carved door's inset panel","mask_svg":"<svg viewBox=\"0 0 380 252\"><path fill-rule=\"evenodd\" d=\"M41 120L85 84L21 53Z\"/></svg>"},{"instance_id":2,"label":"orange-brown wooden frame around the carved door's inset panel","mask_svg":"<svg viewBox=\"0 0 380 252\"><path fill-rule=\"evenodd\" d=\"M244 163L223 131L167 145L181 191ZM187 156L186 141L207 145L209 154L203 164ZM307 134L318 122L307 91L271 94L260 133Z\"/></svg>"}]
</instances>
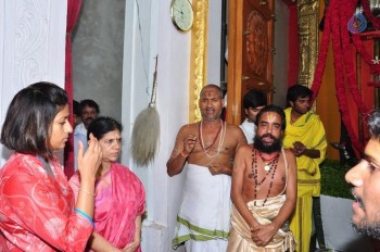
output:
<instances>
[{"instance_id":1,"label":"orange-brown wooden frame around the carved door's inset panel","mask_svg":"<svg viewBox=\"0 0 380 252\"><path fill-rule=\"evenodd\" d=\"M245 24L244 18L244 1L248 1L249 4L253 4L255 8L264 7L262 11L266 12L265 16L267 18L267 28L270 30L268 34L268 63L266 65L265 77L262 80L262 77L252 77L252 80L256 81L254 86L251 84L244 83L243 74L245 68L242 64L245 64L244 55L242 52L245 36ZM257 1L257 0L252 0ZM268 102L273 100L273 87L274 87L274 75L273 75L273 52L274 52L274 1L273 0L261 0L257 2L250 2L250 0L229 0L228 1L228 78L227 78L227 115L226 121L230 124L240 125L243 121L244 113L242 113L242 96L243 90L246 89L257 89L265 91L268 96ZM270 14L271 12L271 14ZM269 41L270 40L270 41ZM269 59L270 58L270 59ZM243 73L244 71L244 73ZM243 86L244 85L244 86ZM248 85L248 86L245 86ZM266 86L262 86L266 85Z\"/></svg>"}]
</instances>

